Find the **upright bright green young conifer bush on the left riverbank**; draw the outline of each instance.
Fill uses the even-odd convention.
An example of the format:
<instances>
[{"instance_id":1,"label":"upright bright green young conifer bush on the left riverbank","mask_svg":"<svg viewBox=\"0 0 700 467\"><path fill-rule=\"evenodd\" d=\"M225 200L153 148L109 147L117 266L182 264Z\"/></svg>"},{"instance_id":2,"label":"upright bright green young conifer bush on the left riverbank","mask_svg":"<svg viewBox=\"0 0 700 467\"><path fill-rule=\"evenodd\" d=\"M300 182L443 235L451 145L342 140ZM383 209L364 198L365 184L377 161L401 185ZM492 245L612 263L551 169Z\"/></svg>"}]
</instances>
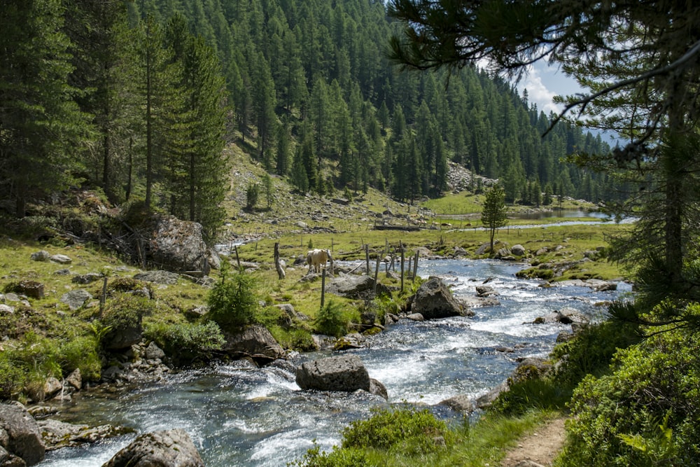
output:
<instances>
[{"instance_id":1,"label":"upright bright green young conifer bush on the left riverbank","mask_svg":"<svg viewBox=\"0 0 700 467\"><path fill-rule=\"evenodd\" d=\"M225 264L225 263L224 263ZM255 279L243 271L228 273L223 267L221 280L209 292L207 318L223 330L235 330L255 320L258 297L255 295Z\"/></svg>"}]
</instances>

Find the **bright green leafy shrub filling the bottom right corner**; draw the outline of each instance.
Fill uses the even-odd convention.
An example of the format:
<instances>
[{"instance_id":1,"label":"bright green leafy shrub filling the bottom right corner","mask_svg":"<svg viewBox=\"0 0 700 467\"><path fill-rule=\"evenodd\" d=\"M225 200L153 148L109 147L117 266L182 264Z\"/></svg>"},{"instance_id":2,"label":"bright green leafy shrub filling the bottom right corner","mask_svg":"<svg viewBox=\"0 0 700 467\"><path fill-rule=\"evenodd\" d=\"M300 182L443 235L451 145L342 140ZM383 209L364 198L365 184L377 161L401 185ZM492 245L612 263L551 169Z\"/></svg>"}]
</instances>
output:
<instances>
[{"instance_id":1,"label":"bright green leafy shrub filling the bottom right corner","mask_svg":"<svg viewBox=\"0 0 700 467\"><path fill-rule=\"evenodd\" d=\"M699 351L697 333L668 330L619 351L610 375L584 378L559 466L695 465Z\"/></svg>"}]
</instances>

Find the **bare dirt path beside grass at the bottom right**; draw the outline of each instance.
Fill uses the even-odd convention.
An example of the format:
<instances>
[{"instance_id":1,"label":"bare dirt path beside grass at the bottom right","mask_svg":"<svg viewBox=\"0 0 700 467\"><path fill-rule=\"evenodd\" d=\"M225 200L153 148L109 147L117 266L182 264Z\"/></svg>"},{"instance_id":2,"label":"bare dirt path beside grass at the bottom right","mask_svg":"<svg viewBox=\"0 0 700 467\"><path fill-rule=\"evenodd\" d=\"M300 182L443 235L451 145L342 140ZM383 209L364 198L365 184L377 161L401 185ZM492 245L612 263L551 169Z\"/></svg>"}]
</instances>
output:
<instances>
[{"instance_id":1,"label":"bare dirt path beside grass at the bottom right","mask_svg":"<svg viewBox=\"0 0 700 467\"><path fill-rule=\"evenodd\" d=\"M521 438L517 446L505 454L501 467L515 467L522 461L551 466L566 436L564 420L565 417L549 420L530 435Z\"/></svg>"}]
</instances>

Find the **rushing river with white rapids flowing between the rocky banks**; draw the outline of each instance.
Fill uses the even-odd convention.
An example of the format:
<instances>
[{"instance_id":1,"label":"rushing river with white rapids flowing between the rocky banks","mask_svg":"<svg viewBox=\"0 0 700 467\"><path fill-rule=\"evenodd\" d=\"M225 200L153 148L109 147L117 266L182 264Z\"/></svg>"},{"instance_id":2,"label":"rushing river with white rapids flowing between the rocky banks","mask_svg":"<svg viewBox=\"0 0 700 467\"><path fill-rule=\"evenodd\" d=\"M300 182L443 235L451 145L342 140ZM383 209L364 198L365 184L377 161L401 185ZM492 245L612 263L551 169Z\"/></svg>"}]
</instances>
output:
<instances>
[{"instance_id":1,"label":"rushing river with white rapids flowing between the rocky banks","mask_svg":"<svg viewBox=\"0 0 700 467\"><path fill-rule=\"evenodd\" d=\"M362 358L370 377L386 385L389 403L435 404L457 394L477 397L503 382L519 356L545 355L556 335L569 326L528 325L554 309L573 307L596 316L596 303L617 292L590 288L540 288L538 281L517 279L520 265L491 260L431 260L419 264L423 277L439 275L456 295L473 295L489 285L500 294L500 306L475 309L473 318L416 323L401 321L370 338ZM524 347L512 354L496 347ZM296 356L293 363L325 354ZM139 433L184 428L209 467L284 466L316 440L324 449L339 441L339 431L381 398L301 391L293 372L283 365L252 368L246 363L212 365L169 377L113 398L85 395L66 407L61 417L86 424L119 424ZM450 417L449 412L441 415ZM101 466L134 435L47 455L41 466Z\"/></svg>"}]
</instances>

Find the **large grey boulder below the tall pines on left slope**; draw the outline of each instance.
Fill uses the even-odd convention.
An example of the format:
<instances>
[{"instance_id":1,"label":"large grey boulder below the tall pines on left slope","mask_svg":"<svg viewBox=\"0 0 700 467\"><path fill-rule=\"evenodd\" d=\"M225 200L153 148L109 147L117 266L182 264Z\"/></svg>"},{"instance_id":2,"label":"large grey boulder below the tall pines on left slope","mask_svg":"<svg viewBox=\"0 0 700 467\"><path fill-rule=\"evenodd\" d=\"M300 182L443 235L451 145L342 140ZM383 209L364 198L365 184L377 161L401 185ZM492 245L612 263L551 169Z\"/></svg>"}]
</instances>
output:
<instances>
[{"instance_id":1,"label":"large grey boulder below the tall pines on left slope","mask_svg":"<svg viewBox=\"0 0 700 467\"><path fill-rule=\"evenodd\" d=\"M151 259L163 269L209 274L210 251L202 225L173 216L158 218L150 242Z\"/></svg>"}]
</instances>

